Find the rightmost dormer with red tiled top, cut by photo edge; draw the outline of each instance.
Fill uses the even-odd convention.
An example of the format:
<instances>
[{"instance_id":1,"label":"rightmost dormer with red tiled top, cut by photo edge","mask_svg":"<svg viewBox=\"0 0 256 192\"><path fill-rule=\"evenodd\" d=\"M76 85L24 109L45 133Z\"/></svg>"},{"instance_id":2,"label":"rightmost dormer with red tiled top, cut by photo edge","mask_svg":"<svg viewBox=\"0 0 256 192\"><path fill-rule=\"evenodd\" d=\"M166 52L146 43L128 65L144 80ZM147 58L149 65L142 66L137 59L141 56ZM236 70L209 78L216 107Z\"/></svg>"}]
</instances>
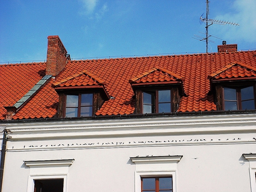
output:
<instances>
[{"instance_id":1,"label":"rightmost dormer with red tiled top, cut by photo edge","mask_svg":"<svg viewBox=\"0 0 256 192\"><path fill-rule=\"evenodd\" d=\"M217 110L256 109L256 71L251 66L229 64L208 78Z\"/></svg>"}]
</instances>

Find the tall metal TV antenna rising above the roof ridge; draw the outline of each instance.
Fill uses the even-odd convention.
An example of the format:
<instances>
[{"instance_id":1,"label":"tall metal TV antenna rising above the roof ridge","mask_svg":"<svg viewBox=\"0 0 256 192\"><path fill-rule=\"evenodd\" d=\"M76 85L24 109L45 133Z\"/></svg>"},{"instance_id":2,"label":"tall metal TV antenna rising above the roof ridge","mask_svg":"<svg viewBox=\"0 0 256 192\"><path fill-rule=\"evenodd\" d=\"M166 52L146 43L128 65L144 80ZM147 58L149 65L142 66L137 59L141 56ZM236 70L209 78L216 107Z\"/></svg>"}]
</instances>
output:
<instances>
[{"instance_id":1,"label":"tall metal TV antenna rising above the roof ridge","mask_svg":"<svg viewBox=\"0 0 256 192\"><path fill-rule=\"evenodd\" d=\"M206 0L206 8L207 8L206 18L203 18L203 14L200 16L201 22L204 22L206 24L206 26L205 26L205 38L200 37L199 35L194 35L196 37L194 39L206 42L206 52L207 53L208 53L208 43L209 42L214 43L214 41L209 40L209 37L214 37L214 36L208 34L209 26L211 26L212 24L222 24L222 25L230 24L232 26L239 26L238 23L234 23L234 22L226 22L224 20L218 20L218 19L208 19L208 15L210 14L209 3L210 2L208 0ZM201 38L201 39L199 39L199 38ZM216 38L218 38L218 37L216 37ZM218 39L220 39L220 38L218 38Z\"/></svg>"}]
</instances>

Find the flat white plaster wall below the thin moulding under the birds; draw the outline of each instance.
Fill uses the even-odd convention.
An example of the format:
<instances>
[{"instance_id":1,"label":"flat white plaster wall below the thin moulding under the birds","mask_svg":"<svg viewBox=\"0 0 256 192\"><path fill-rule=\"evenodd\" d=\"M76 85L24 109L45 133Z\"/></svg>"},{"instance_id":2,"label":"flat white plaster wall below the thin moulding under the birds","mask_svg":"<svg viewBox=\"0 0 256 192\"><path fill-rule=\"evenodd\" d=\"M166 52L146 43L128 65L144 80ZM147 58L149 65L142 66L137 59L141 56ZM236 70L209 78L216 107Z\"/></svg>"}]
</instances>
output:
<instances>
[{"instance_id":1,"label":"flat white plaster wall below the thin moulding under the birds","mask_svg":"<svg viewBox=\"0 0 256 192\"><path fill-rule=\"evenodd\" d=\"M7 153L3 191L27 191L29 168L23 160L74 158L69 167L67 191L134 191L137 155L183 155L177 164L177 191L250 191L249 164L242 153L249 145L196 145L74 149Z\"/></svg>"}]
</instances>

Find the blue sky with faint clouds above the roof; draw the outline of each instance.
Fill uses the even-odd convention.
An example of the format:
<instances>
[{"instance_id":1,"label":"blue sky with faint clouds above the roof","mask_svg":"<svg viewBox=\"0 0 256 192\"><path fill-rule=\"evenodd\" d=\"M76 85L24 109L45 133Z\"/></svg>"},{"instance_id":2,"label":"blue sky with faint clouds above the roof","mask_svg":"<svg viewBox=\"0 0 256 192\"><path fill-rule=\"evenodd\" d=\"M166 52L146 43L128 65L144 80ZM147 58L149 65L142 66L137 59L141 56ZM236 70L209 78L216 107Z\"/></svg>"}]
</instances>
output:
<instances>
[{"instance_id":1,"label":"blue sky with faint clouds above the roof","mask_svg":"<svg viewBox=\"0 0 256 192\"><path fill-rule=\"evenodd\" d=\"M226 40L239 50L256 49L256 0L211 0L215 43ZM72 59L205 53L200 16L205 0L1 0L0 64L44 61L47 36L59 35Z\"/></svg>"}]
</instances>

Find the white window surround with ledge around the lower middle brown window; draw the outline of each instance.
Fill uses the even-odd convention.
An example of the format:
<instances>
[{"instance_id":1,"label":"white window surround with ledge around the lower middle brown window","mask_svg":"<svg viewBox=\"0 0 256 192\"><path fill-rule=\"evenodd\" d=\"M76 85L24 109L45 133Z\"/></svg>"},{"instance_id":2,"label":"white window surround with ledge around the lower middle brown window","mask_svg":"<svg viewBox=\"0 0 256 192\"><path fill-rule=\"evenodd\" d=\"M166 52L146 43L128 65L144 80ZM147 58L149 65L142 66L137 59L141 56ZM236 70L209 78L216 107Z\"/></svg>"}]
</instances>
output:
<instances>
[{"instance_id":1,"label":"white window surround with ledge around the lower middle brown window","mask_svg":"<svg viewBox=\"0 0 256 192\"><path fill-rule=\"evenodd\" d=\"M136 164L135 192L141 192L142 177L172 177L172 190L177 191L177 163L183 156L130 157Z\"/></svg>"}]
</instances>

